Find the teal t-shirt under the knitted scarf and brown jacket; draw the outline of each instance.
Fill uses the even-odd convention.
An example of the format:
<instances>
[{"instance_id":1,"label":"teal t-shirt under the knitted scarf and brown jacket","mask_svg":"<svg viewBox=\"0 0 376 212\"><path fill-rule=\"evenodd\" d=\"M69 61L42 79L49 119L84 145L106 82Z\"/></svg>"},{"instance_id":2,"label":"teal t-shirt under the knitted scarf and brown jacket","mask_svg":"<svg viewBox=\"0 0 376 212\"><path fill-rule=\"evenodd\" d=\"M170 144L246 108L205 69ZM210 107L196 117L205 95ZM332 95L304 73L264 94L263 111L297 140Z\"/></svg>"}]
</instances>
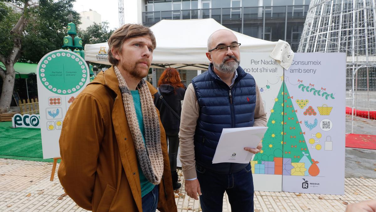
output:
<instances>
[{"instance_id":1,"label":"teal t-shirt under the knitted scarf and brown jacket","mask_svg":"<svg viewBox=\"0 0 376 212\"><path fill-rule=\"evenodd\" d=\"M136 115L137 115L137 120L138 120L138 125L141 130L141 134L144 140L145 144L145 129L144 129L144 120L142 117L142 111L141 111L141 101L140 101L140 95L138 91L130 91L133 97L133 102L135 104L135 109L136 109ZM137 160L138 161L138 160ZM141 166L138 163L138 173L140 175L140 183L141 183L141 197L144 197L146 194L151 192L154 188L154 184L150 183L149 180L146 179L144 173L141 170Z\"/></svg>"}]
</instances>

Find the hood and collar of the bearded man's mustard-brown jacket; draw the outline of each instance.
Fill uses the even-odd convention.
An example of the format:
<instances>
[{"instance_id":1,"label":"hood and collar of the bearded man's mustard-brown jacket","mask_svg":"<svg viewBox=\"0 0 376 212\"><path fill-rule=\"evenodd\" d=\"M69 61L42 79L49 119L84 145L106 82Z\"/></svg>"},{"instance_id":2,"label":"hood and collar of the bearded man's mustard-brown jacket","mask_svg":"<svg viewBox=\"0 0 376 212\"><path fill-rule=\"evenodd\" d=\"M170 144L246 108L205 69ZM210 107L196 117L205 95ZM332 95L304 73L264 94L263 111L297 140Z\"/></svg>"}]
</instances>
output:
<instances>
[{"instance_id":1,"label":"hood and collar of the bearded man's mustard-brown jacket","mask_svg":"<svg viewBox=\"0 0 376 212\"><path fill-rule=\"evenodd\" d=\"M115 94L121 94L120 88L119 88L119 81L116 77L114 66L111 66L109 69L107 69L104 72L101 71L97 75L97 77L101 76L101 75L103 75L104 80L95 80L94 79L89 84L97 84L97 83L103 84L104 86L106 86L109 89L111 89L112 91L114 91ZM157 89L155 89L152 84L150 84L148 81L146 81L146 84L147 84L149 91L150 91L150 94L152 94L152 96L157 93Z\"/></svg>"}]
</instances>

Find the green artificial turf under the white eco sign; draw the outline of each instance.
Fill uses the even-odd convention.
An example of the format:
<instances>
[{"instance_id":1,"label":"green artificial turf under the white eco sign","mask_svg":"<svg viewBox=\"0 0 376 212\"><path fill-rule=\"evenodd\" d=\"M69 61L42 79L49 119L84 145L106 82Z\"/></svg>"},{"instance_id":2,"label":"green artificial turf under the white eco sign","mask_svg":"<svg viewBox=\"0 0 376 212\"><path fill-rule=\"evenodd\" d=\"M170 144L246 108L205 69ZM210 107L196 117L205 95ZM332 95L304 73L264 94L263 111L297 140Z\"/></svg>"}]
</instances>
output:
<instances>
[{"instance_id":1,"label":"green artificial turf under the white eco sign","mask_svg":"<svg viewBox=\"0 0 376 212\"><path fill-rule=\"evenodd\" d=\"M0 122L0 158L53 162L43 159L41 129L12 128L12 121Z\"/></svg>"}]
</instances>

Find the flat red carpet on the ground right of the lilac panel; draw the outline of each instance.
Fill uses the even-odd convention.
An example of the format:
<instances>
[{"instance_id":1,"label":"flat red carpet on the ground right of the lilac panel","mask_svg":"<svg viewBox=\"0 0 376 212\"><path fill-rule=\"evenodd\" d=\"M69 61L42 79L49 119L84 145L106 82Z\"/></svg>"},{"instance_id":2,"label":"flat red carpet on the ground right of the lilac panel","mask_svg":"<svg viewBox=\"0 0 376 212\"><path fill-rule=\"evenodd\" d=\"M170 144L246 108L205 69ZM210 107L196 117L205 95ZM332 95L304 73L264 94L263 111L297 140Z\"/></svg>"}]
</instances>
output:
<instances>
[{"instance_id":1,"label":"flat red carpet on the ground right of the lilac panel","mask_svg":"<svg viewBox=\"0 0 376 212\"><path fill-rule=\"evenodd\" d=\"M376 149L376 135L346 134L346 147Z\"/></svg>"}]
</instances>

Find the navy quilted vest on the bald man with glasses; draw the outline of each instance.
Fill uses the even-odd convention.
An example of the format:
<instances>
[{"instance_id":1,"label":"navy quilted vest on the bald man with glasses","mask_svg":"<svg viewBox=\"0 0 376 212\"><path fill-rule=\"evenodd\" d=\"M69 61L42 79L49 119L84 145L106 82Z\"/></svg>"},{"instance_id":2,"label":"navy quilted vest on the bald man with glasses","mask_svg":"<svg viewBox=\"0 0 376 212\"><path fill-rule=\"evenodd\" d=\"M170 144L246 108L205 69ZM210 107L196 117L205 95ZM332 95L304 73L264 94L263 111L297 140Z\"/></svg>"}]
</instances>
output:
<instances>
[{"instance_id":1,"label":"navy quilted vest on the bald man with glasses","mask_svg":"<svg viewBox=\"0 0 376 212\"><path fill-rule=\"evenodd\" d=\"M223 128L251 127L256 105L256 82L239 66L232 88L220 80L212 70L192 79L200 105L194 135L196 163L218 173L237 172L247 166L238 163L212 164L215 149ZM236 142L236 141L234 141Z\"/></svg>"}]
</instances>

